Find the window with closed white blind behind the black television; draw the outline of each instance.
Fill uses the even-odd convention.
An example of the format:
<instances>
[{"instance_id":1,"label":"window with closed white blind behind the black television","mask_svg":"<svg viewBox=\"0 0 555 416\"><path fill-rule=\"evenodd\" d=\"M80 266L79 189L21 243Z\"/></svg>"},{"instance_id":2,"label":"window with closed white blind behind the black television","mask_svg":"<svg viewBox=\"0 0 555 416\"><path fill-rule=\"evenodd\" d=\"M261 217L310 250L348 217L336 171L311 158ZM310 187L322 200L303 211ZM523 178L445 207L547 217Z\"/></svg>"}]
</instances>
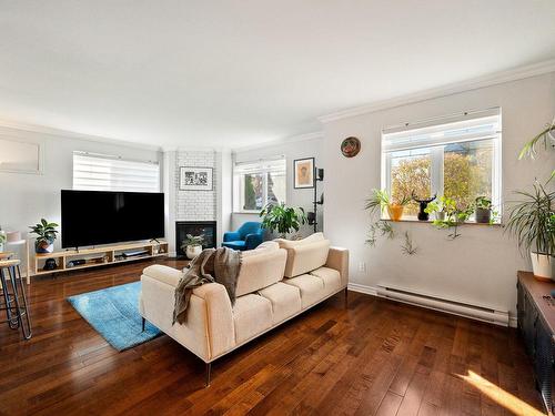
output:
<instances>
[{"instance_id":1,"label":"window with closed white blind behind the black television","mask_svg":"<svg viewBox=\"0 0 555 416\"><path fill-rule=\"evenodd\" d=\"M74 152L73 189L160 192L160 165L158 162Z\"/></svg>"}]
</instances>

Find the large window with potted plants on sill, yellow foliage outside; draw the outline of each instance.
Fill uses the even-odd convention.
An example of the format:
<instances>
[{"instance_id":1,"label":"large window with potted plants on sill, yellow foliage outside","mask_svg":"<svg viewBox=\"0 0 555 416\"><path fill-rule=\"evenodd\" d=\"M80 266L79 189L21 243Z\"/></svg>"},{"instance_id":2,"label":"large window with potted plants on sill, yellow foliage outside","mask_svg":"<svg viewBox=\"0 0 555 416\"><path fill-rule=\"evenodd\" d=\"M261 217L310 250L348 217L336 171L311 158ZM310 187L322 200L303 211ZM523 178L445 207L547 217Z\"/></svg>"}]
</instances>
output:
<instances>
[{"instance_id":1,"label":"large window with potted plants on sill, yellow foliage outside","mask_svg":"<svg viewBox=\"0 0 555 416\"><path fill-rule=\"evenodd\" d=\"M460 209L487 196L500 211L501 110L384 129L382 189L394 200L444 195ZM405 209L417 212L414 202Z\"/></svg>"}]
</instances>

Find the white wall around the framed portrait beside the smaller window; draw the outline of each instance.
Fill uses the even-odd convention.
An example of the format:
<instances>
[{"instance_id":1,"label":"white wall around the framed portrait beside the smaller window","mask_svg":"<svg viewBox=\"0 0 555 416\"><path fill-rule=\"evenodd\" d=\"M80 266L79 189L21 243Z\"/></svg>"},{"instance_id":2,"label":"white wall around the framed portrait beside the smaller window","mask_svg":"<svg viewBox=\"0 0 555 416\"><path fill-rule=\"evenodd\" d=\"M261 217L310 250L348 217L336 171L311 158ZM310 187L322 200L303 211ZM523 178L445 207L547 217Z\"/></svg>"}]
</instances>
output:
<instances>
[{"instance_id":1,"label":"white wall around the framed portrait beside the smaller window","mask_svg":"<svg viewBox=\"0 0 555 416\"><path fill-rule=\"evenodd\" d=\"M285 156L286 160L286 181L287 181L287 193L286 203L292 206L302 206L306 212L313 211L313 200L314 200L314 189L302 189L295 190L293 187L293 161L297 159L314 158L316 168L325 168L325 162L323 158L323 139L315 138L310 140L301 140L295 142L285 142L273 144L264 148L251 149L251 150L238 150L234 152L234 160L236 162L256 161L264 158L273 158L278 155ZM325 174L324 174L325 180ZM325 182L325 181L324 181ZM317 184L317 195L322 194L324 186L322 182ZM322 227L322 205L319 205L320 219L319 229ZM241 224L246 221L260 221L258 214L244 214L244 213L233 213L232 214L232 229L236 230ZM312 225L305 225L301 233L302 235L309 235L313 232Z\"/></svg>"}]
</instances>

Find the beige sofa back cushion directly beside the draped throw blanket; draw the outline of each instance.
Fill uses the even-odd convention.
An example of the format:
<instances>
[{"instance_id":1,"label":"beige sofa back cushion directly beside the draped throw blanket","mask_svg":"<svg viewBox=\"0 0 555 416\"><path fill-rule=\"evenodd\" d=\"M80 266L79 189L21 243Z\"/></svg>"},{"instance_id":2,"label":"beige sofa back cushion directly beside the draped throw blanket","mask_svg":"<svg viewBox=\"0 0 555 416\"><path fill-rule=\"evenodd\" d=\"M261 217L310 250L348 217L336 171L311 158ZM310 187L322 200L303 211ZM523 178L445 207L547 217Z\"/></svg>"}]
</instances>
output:
<instances>
[{"instance_id":1,"label":"beige sofa back cushion directly beside the draped throw blanket","mask_svg":"<svg viewBox=\"0 0 555 416\"><path fill-rule=\"evenodd\" d=\"M238 276L236 296L254 293L283 278L287 253L278 244L244 252Z\"/></svg>"}]
</instances>

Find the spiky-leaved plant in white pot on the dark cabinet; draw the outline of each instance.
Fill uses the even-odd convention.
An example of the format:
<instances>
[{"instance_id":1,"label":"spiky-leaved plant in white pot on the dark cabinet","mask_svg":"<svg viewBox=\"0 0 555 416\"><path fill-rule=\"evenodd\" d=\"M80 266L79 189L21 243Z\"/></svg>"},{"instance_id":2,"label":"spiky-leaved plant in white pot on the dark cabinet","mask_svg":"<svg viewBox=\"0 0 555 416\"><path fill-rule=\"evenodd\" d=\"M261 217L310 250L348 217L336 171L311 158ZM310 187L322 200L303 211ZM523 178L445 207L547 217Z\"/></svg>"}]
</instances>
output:
<instances>
[{"instance_id":1,"label":"spiky-leaved plant in white pot on the dark cabinet","mask_svg":"<svg viewBox=\"0 0 555 416\"><path fill-rule=\"evenodd\" d=\"M533 191L516 192L522 200L509 210L506 230L518 247L529 252L532 270L539 280L555 278L555 192L535 181Z\"/></svg>"}]
</instances>

